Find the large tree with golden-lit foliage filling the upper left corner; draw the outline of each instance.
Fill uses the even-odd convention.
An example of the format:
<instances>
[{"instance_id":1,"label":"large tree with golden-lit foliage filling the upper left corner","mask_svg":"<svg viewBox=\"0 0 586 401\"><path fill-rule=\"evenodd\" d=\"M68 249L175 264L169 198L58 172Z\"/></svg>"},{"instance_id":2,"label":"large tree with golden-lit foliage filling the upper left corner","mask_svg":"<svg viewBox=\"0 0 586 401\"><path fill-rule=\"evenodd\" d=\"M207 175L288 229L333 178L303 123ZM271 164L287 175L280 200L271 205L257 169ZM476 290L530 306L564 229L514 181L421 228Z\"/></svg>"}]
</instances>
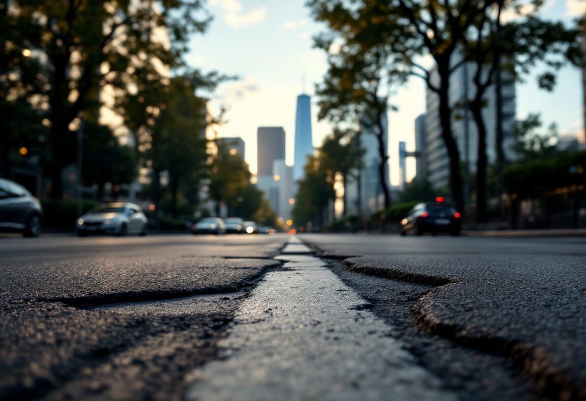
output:
<instances>
[{"instance_id":1,"label":"large tree with golden-lit foliage filling the upper left corner","mask_svg":"<svg viewBox=\"0 0 586 401\"><path fill-rule=\"evenodd\" d=\"M14 0L0 4L6 45L0 76L12 96L47 110L51 195L61 198L70 125L105 86L133 86L137 76L165 83L166 67L182 62L192 32L209 22L201 2L151 0ZM169 40L165 40L165 35Z\"/></svg>"}]
</instances>

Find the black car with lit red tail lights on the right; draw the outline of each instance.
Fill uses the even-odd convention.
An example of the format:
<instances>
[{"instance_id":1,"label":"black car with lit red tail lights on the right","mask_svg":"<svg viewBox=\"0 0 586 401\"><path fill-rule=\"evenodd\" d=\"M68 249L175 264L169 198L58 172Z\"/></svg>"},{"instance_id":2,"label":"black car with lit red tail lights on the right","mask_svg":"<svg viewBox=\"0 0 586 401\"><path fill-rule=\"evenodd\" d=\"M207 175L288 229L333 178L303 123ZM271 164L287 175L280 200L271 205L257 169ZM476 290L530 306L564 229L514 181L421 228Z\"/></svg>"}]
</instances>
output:
<instances>
[{"instance_id":1,"label":"black car with lit red tail lights on the right","mask_svg":"<svg viewBox=\"0 0 586 401\"><path fill-rule=\"evenodd\" d=\"M401 220L401 235L414 233L450 233L460 235L460 213L452 206L440 202L425 202L415 205L406 218Z\"/></svg>"}]
</instances>

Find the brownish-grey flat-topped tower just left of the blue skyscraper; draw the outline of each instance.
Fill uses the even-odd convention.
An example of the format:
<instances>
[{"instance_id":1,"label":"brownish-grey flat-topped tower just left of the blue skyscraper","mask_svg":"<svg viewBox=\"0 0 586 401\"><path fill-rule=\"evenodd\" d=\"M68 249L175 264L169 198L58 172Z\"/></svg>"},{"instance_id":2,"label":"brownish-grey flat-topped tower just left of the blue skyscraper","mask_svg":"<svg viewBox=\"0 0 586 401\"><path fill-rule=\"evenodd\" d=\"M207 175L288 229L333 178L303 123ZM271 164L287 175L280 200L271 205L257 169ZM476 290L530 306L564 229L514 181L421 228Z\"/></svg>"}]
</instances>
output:
<instances>
[{"instance_id":1,"label":"brownish-grey flat-topped tower just left of the blue skyscraper","mask_svg":"<svg viewBox=\"0 0 586 401\"><path fill-rule=\"evenodd\" d=\"M272 176L272 162L285 159L285 130L283 127L258 127L257 176Z\"/></svg>"}]
</instances>

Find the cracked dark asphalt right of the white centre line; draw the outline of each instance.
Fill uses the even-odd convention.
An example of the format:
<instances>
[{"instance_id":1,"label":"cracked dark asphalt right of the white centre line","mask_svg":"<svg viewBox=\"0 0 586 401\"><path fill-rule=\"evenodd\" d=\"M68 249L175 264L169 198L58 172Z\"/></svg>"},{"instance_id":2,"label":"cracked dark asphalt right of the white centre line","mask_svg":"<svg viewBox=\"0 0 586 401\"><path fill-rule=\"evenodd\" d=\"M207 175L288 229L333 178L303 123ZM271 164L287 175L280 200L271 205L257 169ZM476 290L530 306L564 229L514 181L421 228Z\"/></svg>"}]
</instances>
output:
<instances>
[{"instance_id":1,"label":"cracked dark asphalt right of the white centre line","mask_svg":"<svg viewBox=\"0 0 586 401\"><path fill-rule=\"evenodd\" d=\"M301 239L465 399L586 399L584 239Z\"/></svg>"}]
</instances>

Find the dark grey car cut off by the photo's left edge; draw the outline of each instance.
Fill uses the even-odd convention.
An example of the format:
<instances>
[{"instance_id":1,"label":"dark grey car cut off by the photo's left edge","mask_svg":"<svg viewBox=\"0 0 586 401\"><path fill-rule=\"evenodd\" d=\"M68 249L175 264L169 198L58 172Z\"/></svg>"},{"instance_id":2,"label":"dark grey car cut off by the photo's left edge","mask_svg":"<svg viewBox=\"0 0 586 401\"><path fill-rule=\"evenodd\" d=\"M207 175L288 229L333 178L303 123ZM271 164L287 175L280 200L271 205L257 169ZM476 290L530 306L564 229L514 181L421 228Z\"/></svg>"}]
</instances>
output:
<instances>
[{"instance_id":1,"label":"dark grey car cut off by the photo's left edge","mask_svg":"<svg viewBox=\"0 0 586 401\"><path fill-rule=\"evenodd\" d=\"M18 183L0 178L0 230L38 237L42 220L39 199Z\"/></svg>"}]
</instances>

